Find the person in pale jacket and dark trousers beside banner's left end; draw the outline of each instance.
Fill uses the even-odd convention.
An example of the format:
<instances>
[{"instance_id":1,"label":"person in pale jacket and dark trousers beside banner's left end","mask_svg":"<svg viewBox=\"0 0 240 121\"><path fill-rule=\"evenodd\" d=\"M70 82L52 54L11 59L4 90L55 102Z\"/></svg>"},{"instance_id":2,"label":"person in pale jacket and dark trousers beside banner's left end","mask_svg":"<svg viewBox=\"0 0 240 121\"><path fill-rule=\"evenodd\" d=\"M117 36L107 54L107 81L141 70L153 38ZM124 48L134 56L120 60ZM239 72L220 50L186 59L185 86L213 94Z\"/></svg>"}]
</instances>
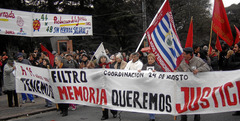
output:
<instances>
[{"instance_id":1,"label":"person in pale jacket and dark trousers beside banner's left end","mask_svg":"<svg viewBox=\"0 0 240 121\"><path fill-rule=\"evenodd\" d=\"M7 93L8 97L8 106L9 107L18 107L18 96L16 93L16 86L15 86L15 76L14 76L14 70L16 69L15 66L13 66L13 59L9 59L7 64L4 66L4 91ZM14 104L13 105L13 97L14 97Z\"/></svg>"}]
</instances>

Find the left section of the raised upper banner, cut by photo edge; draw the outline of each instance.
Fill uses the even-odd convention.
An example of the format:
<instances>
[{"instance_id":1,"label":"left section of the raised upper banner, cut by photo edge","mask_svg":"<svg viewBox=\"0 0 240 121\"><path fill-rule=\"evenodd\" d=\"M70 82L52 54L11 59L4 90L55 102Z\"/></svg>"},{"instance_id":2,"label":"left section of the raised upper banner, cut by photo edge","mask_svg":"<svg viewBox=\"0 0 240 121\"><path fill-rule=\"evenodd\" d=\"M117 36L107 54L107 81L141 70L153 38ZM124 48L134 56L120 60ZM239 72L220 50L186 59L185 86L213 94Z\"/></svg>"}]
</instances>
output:
<instances>
[{"instance_id":1,"label":"left section of the raised upper banner, cut by photo edge","mask_svg":"<svg viewBox=\"0 0 240 121\"><path fill-rule=\"evenodd\" d=\"M31 12L0 8L0 34L32 36Z\"/></svg>"}]
</instances>

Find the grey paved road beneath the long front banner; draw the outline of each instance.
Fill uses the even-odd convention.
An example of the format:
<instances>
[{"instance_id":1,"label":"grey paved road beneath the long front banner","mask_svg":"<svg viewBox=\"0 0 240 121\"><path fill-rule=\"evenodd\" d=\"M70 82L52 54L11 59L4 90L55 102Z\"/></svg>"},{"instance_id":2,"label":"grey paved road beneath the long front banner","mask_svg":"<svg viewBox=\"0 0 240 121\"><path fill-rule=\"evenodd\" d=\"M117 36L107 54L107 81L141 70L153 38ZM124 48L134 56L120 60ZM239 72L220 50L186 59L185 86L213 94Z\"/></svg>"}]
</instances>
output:
<instances>
[{"instance_id":1,"label":"grey paved road beneath the long front banner","mask_svg":"<svg viewBox=\"0 0 240 121\"><path fill-rule=\"evenodd\" d=\"M9 121L100 121L101 108L78 106L75 111L69 111L67 117L61 117L59 111L49 111L41 114L35 114L29 117L20 117ZM118 113L119 114L119 113ZM106 121L148 121L148 114L121 112L121 119L113 118L109 115ZM156 121L174 121L171 115L156 115ZM178 117L177 121L180 121ZM193 116L188 117L188 121L193 121ZM232 116L232 112L201 115L201 121L240 121L240 116Z\"/></svg>"}]
</instances>

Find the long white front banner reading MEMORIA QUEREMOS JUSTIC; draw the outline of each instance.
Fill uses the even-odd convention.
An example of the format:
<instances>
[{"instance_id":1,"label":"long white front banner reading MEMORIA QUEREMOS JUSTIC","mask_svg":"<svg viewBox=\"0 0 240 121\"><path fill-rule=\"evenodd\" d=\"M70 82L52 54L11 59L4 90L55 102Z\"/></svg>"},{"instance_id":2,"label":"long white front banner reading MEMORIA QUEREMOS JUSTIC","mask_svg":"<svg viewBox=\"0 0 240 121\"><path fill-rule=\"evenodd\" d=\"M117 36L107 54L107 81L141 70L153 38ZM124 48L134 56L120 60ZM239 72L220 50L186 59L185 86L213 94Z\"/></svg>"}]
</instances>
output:
<instances>
[{"instance_id":1,"label":"long white front banner reading MEMORIA QUEREMOS JUSTIC","mask_svg":"<svg viewBox=\"0 0 240 121\"><path fill-rule=\"evenodd\" d=\"M16 64L18 93L54 103L75 103L155 114L240 110L240 70L206 72L42 69Z\"/></svg>"}]
</instances>

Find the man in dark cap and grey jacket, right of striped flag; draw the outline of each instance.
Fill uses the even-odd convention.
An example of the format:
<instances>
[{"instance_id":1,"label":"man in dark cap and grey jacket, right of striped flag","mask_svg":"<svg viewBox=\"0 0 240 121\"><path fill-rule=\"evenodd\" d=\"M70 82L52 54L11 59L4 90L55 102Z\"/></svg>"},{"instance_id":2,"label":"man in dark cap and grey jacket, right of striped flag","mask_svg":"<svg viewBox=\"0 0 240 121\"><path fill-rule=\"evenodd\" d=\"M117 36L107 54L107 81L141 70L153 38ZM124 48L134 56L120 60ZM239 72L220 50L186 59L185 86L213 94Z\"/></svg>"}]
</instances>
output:
<instances>
[{"instance_id":1,"label":"man in dark cap and grey jacket, right of striped flag","mask_svg":"<svg viewBox=\"0 0 240 121\"><path fill-rule=\"evenodd\" d=\"M177 71L193 72L193 74L197 74L198 72L210 71L208 64L204 62L201 58L196 57L191 47L183 49L183 57L184 59L177 68ZM187 121L187 115L181 115L181 121ZM194 121L200 121L199 114L194 115Z\"/></svg>"}]
</instances>

